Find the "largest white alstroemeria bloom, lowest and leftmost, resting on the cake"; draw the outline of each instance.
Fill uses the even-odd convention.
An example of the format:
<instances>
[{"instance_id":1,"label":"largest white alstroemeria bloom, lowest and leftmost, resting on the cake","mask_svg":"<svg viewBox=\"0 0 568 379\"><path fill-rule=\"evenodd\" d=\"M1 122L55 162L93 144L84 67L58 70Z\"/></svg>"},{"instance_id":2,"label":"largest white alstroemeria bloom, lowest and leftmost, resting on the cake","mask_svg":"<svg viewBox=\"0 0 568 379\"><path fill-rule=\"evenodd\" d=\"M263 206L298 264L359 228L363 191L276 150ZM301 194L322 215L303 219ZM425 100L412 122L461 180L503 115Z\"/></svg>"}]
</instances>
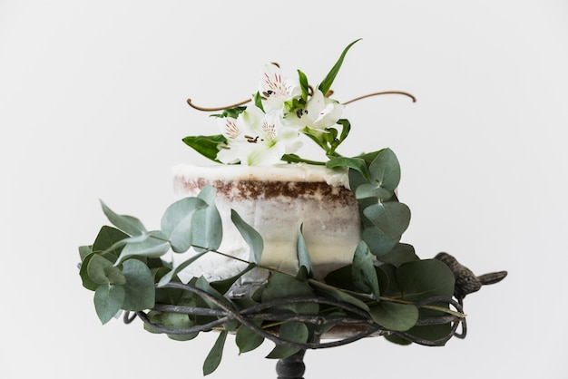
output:
<instances>
[{"instance_id":1,"label":"largest white alstroemeria bloom, lowest and leftmost, resting on the cake","mask_svg":"<svg viewBox=\"0 0 568 379\"><path fill-rule=\"evenodd\" d=\"M236 120L219 120L221 132L228 139L217 154L223 163L272 165L301 146L297 128L282 125L278 112L264 113L256 105L248 106Z\"/></svg>"}]
</instances>

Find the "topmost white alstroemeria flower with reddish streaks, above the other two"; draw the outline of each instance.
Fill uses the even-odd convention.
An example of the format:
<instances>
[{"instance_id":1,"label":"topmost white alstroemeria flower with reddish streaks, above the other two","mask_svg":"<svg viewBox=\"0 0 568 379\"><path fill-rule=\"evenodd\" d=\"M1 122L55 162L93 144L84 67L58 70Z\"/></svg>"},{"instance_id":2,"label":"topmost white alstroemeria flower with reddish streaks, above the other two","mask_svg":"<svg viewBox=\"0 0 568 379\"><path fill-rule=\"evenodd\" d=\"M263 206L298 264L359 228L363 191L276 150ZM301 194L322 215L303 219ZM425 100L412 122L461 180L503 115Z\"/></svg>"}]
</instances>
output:
<instances>
[{"instance_id":1,"label":"topmost white alstroemeria flower with reddish streaks, above the other two","mask_svg":"<svg viewBox=\"0 0 568 379\"><path fill-rule=\"evenodd\" d=\"M262 67L259 92L263 98L262 106L267 113L280 112L284 108L284 102L302 94L299 79L283 77L279 66L274 63Z\"/></svg>"}]
</instances>

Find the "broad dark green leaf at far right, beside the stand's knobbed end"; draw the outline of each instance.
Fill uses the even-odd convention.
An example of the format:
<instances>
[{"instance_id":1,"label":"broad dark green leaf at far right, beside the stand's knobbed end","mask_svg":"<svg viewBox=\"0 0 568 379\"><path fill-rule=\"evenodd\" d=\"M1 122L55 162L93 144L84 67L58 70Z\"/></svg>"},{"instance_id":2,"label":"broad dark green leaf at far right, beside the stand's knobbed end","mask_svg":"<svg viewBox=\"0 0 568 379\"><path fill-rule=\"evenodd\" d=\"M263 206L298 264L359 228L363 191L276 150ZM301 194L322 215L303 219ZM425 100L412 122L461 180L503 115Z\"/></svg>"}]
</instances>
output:
<instances>
[{"instance_id":1,"label":"broad dark green leaf at far right, beside the stand's knobbed end","mask_svg":"<svg viewBox=\"0 0 568 379\"><path fill-rule=\"evenodd\" d=\"M436 259L407 262L397 268L396 276L406 301L418 302L432 296L451 297L454 294L454 274Z\"/></svg>"}]
</instances>

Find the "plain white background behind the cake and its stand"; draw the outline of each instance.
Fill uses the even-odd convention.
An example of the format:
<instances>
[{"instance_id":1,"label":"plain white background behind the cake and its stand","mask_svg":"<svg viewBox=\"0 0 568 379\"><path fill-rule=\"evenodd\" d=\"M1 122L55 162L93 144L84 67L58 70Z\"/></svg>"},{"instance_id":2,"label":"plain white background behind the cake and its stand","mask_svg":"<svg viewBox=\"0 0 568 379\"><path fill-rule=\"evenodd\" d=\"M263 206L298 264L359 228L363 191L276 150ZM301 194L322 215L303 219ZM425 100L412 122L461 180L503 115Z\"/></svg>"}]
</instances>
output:
<instances>
[{"instance_id":1,"label":"plain white background behind the cake and its stand","mask_svg":"<svg viewBox=\"0 0 568 379\"><path fill-rule=\"evenodd\" d=\"M318 83L359 37L335 98L418 102L352 104L341 152L397 153L420 257L509 277L465 299L465 340L309 351L306 377L567 377L568 3L550 0L0 0L0 377L201 377L216 335L101 326L76 248L99 199L156 228L171 166L205 163L181 138L218 131L188 97L246 99L271 61ZM276 377L271 348L230 338L211 377Z\"/></svg>"}]
</instances>

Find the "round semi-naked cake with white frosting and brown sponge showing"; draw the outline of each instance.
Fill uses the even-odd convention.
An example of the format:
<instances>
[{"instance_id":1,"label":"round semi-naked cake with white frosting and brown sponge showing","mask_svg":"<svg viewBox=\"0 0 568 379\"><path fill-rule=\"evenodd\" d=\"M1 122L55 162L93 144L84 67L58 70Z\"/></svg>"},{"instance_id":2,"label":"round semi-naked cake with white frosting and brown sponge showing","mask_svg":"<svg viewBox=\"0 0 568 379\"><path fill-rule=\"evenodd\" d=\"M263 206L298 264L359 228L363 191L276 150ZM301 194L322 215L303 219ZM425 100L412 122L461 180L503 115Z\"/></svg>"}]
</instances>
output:
<instances>
[{"instance_id":1,"label":"round semi-naked cake with white frosting and brown sponge showing","mask_svg":"<svg viewBox=\"0 0 568 379\"><path fill-rule=\"evenodd\" d=\"M249 248L230 220L230 209L255 228L263 238L260 264L295 274L300 227L306 240L314 277L347 266L360 240L357 200L348 189L345 170L329 170L305 164L260 166L179 165L173 168L174 194L181 199L196 196L206 185L217 190L216 205L223 225L219 250L249 258ZM175 257L174 257L175 258ZM185 258L182 258L185 259ZM209 253L184 274L208 280L231 277L244 265ZM248 278L260 281L266 273Z\"/></svg>"}]
</instances>

